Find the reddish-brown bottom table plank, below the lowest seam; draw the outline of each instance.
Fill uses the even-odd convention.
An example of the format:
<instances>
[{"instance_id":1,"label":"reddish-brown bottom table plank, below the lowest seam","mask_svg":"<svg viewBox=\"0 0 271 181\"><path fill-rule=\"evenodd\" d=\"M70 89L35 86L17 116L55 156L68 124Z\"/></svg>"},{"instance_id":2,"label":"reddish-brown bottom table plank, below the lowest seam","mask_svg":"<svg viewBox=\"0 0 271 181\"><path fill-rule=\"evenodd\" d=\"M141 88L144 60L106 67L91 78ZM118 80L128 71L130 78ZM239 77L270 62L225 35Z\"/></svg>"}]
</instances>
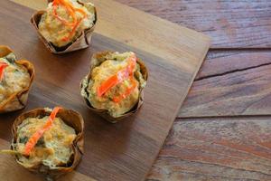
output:
<instances>
[{"instance_id":1,"label":"reddish-brown bottom table plank, below the lowest seam","mask_svg":"<svg viewBox=\"0 0 271 181\"><path fill-rule=\"evenodd\" d=\"M178 119L148 181L271 180L270 117Z\"/></svg>"}]
</instances>

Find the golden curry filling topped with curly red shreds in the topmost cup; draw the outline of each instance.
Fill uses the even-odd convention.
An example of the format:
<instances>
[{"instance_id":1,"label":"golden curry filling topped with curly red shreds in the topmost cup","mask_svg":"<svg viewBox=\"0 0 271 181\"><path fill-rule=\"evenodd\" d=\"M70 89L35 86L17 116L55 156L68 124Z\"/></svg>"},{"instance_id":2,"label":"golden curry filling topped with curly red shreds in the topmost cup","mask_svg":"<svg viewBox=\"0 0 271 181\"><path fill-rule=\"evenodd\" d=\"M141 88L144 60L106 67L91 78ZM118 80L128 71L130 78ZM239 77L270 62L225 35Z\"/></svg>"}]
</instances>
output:
<instances>
[{"instance_id":1,"label":"golden curry filling topped with curly red shreds in the topmost cup","mask_svg":"<svg viewBox=\"0 0 271 181\"><path fill-rule=\"evenodd\" d=\"M39 31L53 45L63 47L76 40L96 20L95 7L77 0L54 0L42 14Z\"/></svg>"}]
</instances>

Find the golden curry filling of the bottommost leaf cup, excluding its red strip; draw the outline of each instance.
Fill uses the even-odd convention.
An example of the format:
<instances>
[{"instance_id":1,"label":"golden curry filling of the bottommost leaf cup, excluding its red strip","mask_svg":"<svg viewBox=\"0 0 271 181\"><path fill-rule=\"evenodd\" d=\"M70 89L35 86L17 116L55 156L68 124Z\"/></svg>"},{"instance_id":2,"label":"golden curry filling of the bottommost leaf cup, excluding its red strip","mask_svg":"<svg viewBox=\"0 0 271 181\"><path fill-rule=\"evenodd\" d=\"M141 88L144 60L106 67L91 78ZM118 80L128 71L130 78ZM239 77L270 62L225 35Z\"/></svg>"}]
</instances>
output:
<instances>
[{"instance_id":1,"label":"golden curry filling of the bottommost leaf cup, excluding its red strip","mask_svg":"<svg viewBox=\"0 0 271 181\"><path fill-rule=\"evenodd\" d=\"M50 117L24 119L17 129L17 140L14 148L20 152L18 160L25 167L44 165L48 167L65 167L69 165L73 154L72 143L76 138L76 132L64 123L61 118L51 121L50 129L44 131L38 139L29 156L24 156L27 143L33 135L42 129Z\"/></svg>"}]
</instances>

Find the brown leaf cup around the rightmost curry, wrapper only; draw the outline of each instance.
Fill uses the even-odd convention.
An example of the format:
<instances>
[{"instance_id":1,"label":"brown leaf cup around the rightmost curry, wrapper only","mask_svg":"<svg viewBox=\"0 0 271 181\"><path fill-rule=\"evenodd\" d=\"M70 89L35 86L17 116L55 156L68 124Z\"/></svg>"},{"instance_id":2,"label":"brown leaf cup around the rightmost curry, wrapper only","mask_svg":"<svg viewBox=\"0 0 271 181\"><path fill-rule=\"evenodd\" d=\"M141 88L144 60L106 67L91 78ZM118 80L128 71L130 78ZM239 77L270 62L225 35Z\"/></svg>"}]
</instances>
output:
<instances>
[{"instance_id":1,"label":"brown leaf cup around the rightmost curry, wrapper only","mask_svg":"<svg viewBox=\"0 0 271 181\"><path fill-rule=\"evenodd\" d=\"M107 121L111 122L111 123L117 123L118 121L120 121L121 119L125 119L129 116L132 116L133 114L135 114L143 105L143 101L144 101L144 88L146 85L146 81L148 78L148 71L145 67L145 63L139 59L136 58L136 63L139 67L139 71L142 74L142 78L143 81L141 81L142 83L139 82L139 88L138 88L138 97L136 99L135 105L132 107L132 109L127 110L125 113L121 114L121 115L112 115L112 113L110 113L109 110L107 109L97 109L95 108L91 101L89 100L89 83L93 82L92 81L92 71L98 67L99 65L101 65L101 63L106 62L107 61L107 56L110 56L110 54L115 53L115 52L98 52L96 54L93 55L91 62L90 62L90 67L89 67L89 73L88 75L81 81L80 83L80 91L81 91L81 96L83 97L83 99L85 100L85 102L87 103L89 110L97 113L98 115L100 115L101 117L103 117L104 119L107 119Z\"/></svg>"}]
</instances>

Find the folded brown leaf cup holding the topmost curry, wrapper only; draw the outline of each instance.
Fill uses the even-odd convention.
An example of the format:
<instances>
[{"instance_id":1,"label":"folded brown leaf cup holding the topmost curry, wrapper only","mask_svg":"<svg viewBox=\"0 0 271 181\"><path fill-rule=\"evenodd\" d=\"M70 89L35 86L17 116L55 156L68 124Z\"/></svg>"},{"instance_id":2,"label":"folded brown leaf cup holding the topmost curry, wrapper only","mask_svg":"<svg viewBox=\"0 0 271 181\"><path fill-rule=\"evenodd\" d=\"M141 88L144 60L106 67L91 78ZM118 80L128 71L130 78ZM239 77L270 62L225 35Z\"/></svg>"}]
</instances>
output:
<instances>
[{"instance_id":1,"label":"folded brown leaf cup holding the topmost curry, wrapper only","mask_svg":"<svg viewBox=\"0 0 271 181\"><path fill-rule=\"evenodd\" d=\"M51 2L53 1L48 0L48 4ZM83 6L87 5L87 3L82 3L80 1L77 1L77 2L79 3L79 5L83 5ZM68 43L66 43L65 45L62 45L62 44L56 45L52 43L51 41L49 41L48 39L46 39L42 35L39 28L39 24L42 21L42 15L46 14L46 11L38 11L34 13L31 18L31 23L33 24L34 29L38 33L38 36L41 39L42 43L44 43L44 45L50 52L55 53L55 54L61 54L61 53L66 53L66 52L78 51L81 49L88 48L91 43L91 37L94 32L95 25L97 23L97 10L94 5L92 6L92 8L93 8L93 14L94 14L94 20L93 20L92 26L85 28L83 30L80 30L79 33L77 33L77 35L74 35L74 37L70 39ZM61 32L61 30L57 32Z\"/></svg>"}]
</instances>

